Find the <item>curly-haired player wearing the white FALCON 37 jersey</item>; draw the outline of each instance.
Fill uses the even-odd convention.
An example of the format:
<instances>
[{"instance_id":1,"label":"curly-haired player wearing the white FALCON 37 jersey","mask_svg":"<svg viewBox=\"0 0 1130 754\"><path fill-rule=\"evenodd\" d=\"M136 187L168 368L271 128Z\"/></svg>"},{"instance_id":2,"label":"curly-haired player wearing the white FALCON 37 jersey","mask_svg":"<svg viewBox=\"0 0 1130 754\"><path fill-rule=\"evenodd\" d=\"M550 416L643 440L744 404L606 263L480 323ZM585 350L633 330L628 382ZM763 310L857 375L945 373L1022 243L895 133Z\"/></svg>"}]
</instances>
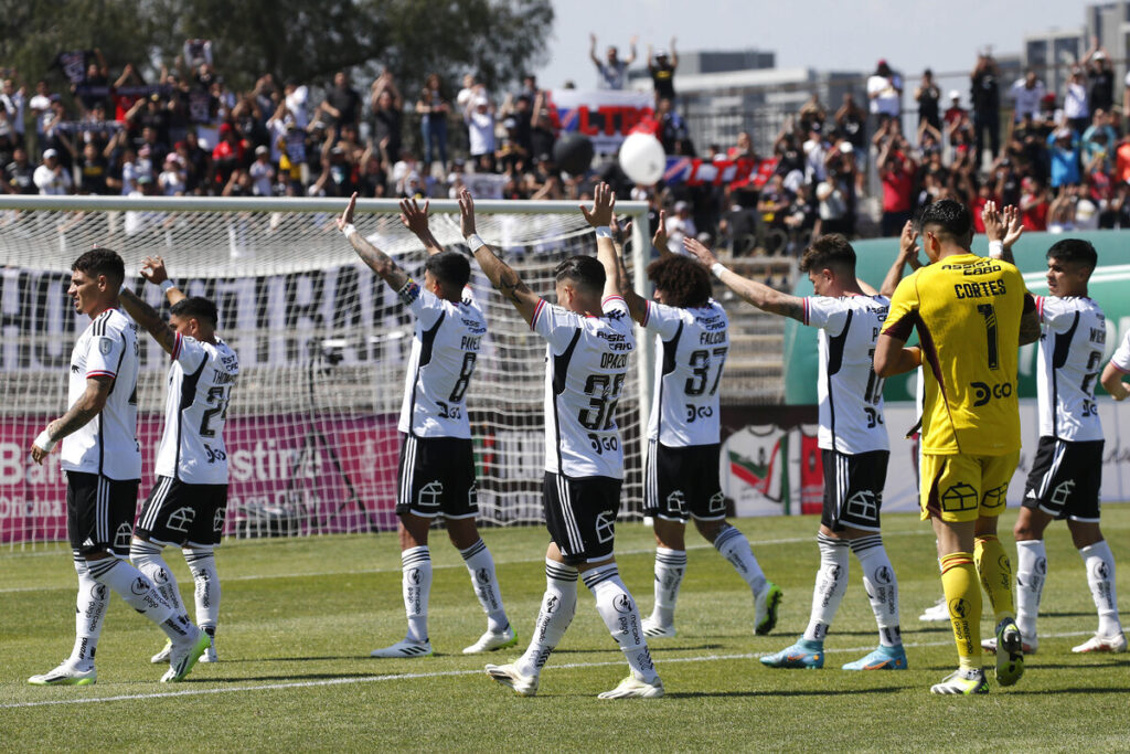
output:
<instances>
[{"instance_id":1,"label":"curly-haired player wearing the white FALCON 37 jersey","mask_svg":"<svg viewBox=\"0 0 1130 754\"><path fill-rule=\"evenodd\" d=\"M719 385L730 347L730 320L711 297L710 274L667 248L663 215L652 245L660 258L647 267L654 301L632 289L620 265L620 293L632 319L655 333L655 389L647 423L644 510L654 520L655 604L643 619L649 638L675 636L675 606L687 569L687 521L714 545L753 592L754 632L776 625L781 589L765 578L749 540L725 520L719 482ZM618 229L618 228L617 228ZM625 231L626 232L626 231Z\"/></svg>"}]
</instances>

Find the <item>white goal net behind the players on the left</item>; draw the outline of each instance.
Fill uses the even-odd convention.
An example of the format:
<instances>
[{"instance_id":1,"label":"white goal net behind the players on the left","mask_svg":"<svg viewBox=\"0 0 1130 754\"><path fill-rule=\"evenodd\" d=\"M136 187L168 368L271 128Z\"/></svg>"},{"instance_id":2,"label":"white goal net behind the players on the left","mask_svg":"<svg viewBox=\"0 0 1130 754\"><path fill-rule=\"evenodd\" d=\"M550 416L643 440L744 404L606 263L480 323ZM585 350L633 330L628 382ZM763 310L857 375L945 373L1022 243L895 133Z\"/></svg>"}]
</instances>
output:
<instances>
[{"instance_id":1,"label":"white goal net behind the players on the left","mask_svg":"<svg viewBox=\"0 0 1130 754\"><path fill-rule=\"evenodd\" d=\"M71 348L89 322L67 297L70 265L93 245L118 251L125 285L158 311L168 311L162 292L136 274L146 255L164 257L182 291L219 309L219 333L241 361L225 431L226 536L394 528L397 422L412 321L337 231L344 206L325 199L0 198L0 543L67 538L59 453L41 467L28 449L67 407ZM623 202L618 211L646 227L644 205ZM592 228L572 203L478 202L476 214L479 235L550 301L557 261L596 253ZM462 244L455 202L433 201L431 224L442 244ZM394 201L359 201L355 225L423 276L424 249L401 225ZM638 234L636 241L629 254L649 249ZM628 263L642 277L643 265ZM537 523L545 341L472 270L488 322L467 393L480 520ZM144 497L164 422L168 359L148 333L138 341ZM642 508L641 407L651 379L640 375L650 373L650 338L641 337L619 402L623 517Z\"/></svg>"}]
</instances>

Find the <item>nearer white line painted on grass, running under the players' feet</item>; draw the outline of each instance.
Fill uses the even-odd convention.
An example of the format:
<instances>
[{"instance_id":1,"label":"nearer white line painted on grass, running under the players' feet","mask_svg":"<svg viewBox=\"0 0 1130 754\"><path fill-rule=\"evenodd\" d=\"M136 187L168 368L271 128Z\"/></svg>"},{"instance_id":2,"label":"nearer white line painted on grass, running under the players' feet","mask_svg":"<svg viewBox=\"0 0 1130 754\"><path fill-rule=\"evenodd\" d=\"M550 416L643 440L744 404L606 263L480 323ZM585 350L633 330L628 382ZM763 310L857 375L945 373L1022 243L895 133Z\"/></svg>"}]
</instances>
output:
<instances>
[{"instance_id":1,"label":"nearer white line painted on grass, running under the players' feet","mask_svg":"<svg viewBox=\"0 0 1130 754\"><path fill-rule=\"evenodd\" d=\"M1089 631L1069 631L1067 633L1044 634L1044 639L1066 639L1069 636L1089 635ZM922 641L907 642L905 647L945 647L951 643L946 641ZM859 653L875 649L875 644L866 647L845 647L825 649L827 653ZM678 650L672 650L678 651ZM672 665L675 662L718 662L719 660L751 660L762 657L759 653L740 652L737 655L699 655L697 657L662 657L659 666ZM547 666L553 670L571 670L575 668L599 668L609 665L623 665L624 660L607 660L602 662L566 662L563 665ZM202 696L205 694L233 694L245 691L279 691L285 688L316 688L320 686L344 686L358 683L383 683L385 681L418 681L420 678L447 678L453 676L481 675L483 670L436 670L435 673L400 673L383 676L365 676L362 678L324 678L322 681L290 681L287 683L271 683L254 686L229 686L226 688L185 688L182 691L163 692L156 694L122 694L120 696L87 696L80 699L52 699L42 702L16 702L15 704L0 704L0 710L26 708L26 707L53 707L56 704L95 704L98 702L130 702L142 699L164 699L168 696Z\"/></svg>"}]
</instances>

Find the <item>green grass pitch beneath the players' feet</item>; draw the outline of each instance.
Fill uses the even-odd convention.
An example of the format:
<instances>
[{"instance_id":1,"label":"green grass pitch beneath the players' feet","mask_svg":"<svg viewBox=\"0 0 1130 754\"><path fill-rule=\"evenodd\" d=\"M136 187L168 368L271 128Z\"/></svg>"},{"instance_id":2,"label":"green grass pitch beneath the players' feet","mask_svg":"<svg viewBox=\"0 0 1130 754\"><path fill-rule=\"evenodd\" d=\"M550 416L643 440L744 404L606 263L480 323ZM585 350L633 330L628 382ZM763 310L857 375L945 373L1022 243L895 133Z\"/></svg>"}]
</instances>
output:
<instances>
[{"instance_id":1,"label":"green grass pitch beneath the players' feet","mask_svg":"<svg viewBox=\"0 0 1130 754\"><path fill-rule=\"evenodd\" d=\"M1008 531L1009 511L1001 521ZM810 517L738 520L766 574L785 592L770 636L751 631L745 583L696 534L677 613L679 635L652 642L667 687L660 700L600 701L626 665L580 588L576 618L522 699L483 673L514 650L467 657L485 618L459 554L433 531L431 633L436 655L373 660L405 618L397 538L375 536L229 543L217 557L220 662L179 685L157 683L149 656L164 635L115 597L98 645L98 683L33 687L26 678L64 658L73 640L75 573L68 551L0 553L0 749L133 751L1127 751L1130 655L1077 656L1096 617L1081 560L1062 523L1048 536L1049 581L1040 652L1012 688L937 697L929 685L956 666L948 624L916 618L940 596L928 525L885 518L898 574L910 670L847 673L877 642L858 563L825 647L823 670L779 670L757 657L803 630L817 564ZM1105 508L1103 529L1130 564L1130 506ZM546 534L490 529L503 598L524 647L541 597ZM1012 549L1010 536L1006 545ZM653 540L621 523L624 581L646 614ZM191 600L183 558L166 560ZM1123 599L1123 607L1127 600ZM982 623L989 635L991 617ZM991 662L991 657L986 657Z\"/></svg>"}]
</instances>

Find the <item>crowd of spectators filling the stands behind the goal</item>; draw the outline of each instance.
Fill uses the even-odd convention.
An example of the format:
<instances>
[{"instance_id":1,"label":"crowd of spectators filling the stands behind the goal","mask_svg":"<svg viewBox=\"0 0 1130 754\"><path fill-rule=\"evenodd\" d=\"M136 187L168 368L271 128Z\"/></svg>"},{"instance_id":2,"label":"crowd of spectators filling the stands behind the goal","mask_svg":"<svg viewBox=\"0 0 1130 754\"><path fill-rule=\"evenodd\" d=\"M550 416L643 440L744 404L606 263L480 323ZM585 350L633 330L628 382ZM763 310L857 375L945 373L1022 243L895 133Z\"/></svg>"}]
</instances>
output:
<instances>
[{"instance_id":1,"label":"crowd of spectators filling the stands behind the goal","mask_svg":"<svg viewBox=\"0 0 1130 754\"><path fill-rule=\"evenodd\" d=\"M615 46L600 57L593 35L589 52L596 87L624 88L636 40L626 58ZM70 81L66 96L47 80L31 94L15 76L3 79L5 192L453 198L464 185L473 192L486 184L507 199L585 199L600 180L625 193L631 185L610 158L583 174L560 170L558 135L533 76L498 94L473 73L455 87L435 73L409 83L385 71L363 93L339 71L315 94L306 83L264 73L241 92L201 40L188 41L155 83L132 64L112 72L98 51L68 54L58 61ZM646 58L655 90L649 128L669 156L763 166L756 180L723 185L635 187L633 198L655 207L654 222L668 209L673 245L705 234L738 253L772 253L797 252L811 234L897 235L909 217L944 198L968 206L979 222L986 201L1015 205L1033 231L1130 225L1130 129L1122 116L1130 86L1116 107L1111 61L1097 44L1062 92L1049 92L1036 70L1001 81L992 55L980 54L970 110L956 89L944 97L931 71L905 92L902 77L879 61L834 111L812 95L770 155L758 155L746 132L732 145L696 146L677 107L675 40L670 51L649 46ZM918 127L904 132L911 109ZM881 207L877 227L866 217L869 192Z\"/></svg>"}]
</instances>

